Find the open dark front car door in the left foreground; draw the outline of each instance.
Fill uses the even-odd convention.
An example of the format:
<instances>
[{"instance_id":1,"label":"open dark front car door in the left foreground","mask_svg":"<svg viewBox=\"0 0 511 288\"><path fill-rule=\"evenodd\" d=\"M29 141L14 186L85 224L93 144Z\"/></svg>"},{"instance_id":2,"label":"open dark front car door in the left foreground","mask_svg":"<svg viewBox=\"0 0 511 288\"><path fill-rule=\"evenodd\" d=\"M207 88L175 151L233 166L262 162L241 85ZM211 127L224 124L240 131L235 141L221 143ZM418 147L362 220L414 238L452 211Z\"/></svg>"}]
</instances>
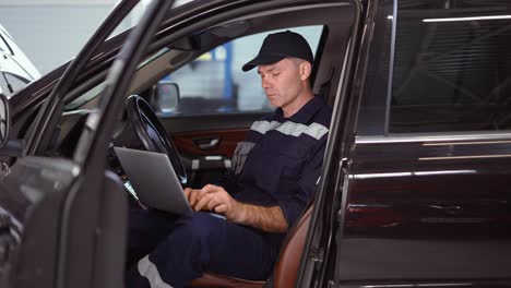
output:
<instances>
[{"instance_id":1,"label":"open dark front car door in the left foreground","mask_svg":"<svg viewBox=\"0 0 511 288\"><path fill-rule=\"evenodd\" d=\"M127 200L107 144L142 51L174 1L153 1L114 61L72 159L45 156L62 98L138 3L121 1L40 107L21 157L0 176L1 287L122 287ZM9 143L8 143L9 144ZM12 155L5 145L2 154Z\"/></svg>"}]
</instances>

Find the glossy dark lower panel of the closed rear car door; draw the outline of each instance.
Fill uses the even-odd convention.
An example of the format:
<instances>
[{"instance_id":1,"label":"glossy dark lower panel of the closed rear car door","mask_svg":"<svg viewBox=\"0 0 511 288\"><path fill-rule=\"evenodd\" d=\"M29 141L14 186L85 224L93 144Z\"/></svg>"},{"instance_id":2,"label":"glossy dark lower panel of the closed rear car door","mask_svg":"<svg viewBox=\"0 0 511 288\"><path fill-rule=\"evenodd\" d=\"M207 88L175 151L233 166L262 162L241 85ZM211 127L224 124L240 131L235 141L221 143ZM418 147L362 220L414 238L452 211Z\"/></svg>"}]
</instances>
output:
<instances>
[{"instance_id":1,"label":"glossy dark lower panel of the closed rear car door","mask_svg":"<svg viewBox=\"0 0 511 288\"><path fill-rule=\"evenodd\" d=\"M509 141L358 142L340 214L340 278L509 277L510 151Z\"/></svg>"}]
</instances>

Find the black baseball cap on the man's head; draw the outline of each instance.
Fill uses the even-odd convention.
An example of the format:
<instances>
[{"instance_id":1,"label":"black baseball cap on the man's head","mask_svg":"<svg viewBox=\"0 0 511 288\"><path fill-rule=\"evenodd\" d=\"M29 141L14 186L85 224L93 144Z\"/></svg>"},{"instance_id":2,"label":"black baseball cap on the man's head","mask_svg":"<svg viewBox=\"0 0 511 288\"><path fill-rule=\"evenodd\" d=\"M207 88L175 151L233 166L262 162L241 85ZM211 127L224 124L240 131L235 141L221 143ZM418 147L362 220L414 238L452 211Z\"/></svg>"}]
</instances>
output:
<instances>
[{"instance_id":1,"label":"black baseball cap on the man's head","mask_svg":"<svg viewBox=\"0 0 511 288\"><path fill-rule=\"evenodd\" d=\"M264 38L259 55L241 69L249 71L258 65L268 65L284 58L299 58L312 63L313 56L304 36L290 31L273 33Z\"/></svg>"}]
</instances>

